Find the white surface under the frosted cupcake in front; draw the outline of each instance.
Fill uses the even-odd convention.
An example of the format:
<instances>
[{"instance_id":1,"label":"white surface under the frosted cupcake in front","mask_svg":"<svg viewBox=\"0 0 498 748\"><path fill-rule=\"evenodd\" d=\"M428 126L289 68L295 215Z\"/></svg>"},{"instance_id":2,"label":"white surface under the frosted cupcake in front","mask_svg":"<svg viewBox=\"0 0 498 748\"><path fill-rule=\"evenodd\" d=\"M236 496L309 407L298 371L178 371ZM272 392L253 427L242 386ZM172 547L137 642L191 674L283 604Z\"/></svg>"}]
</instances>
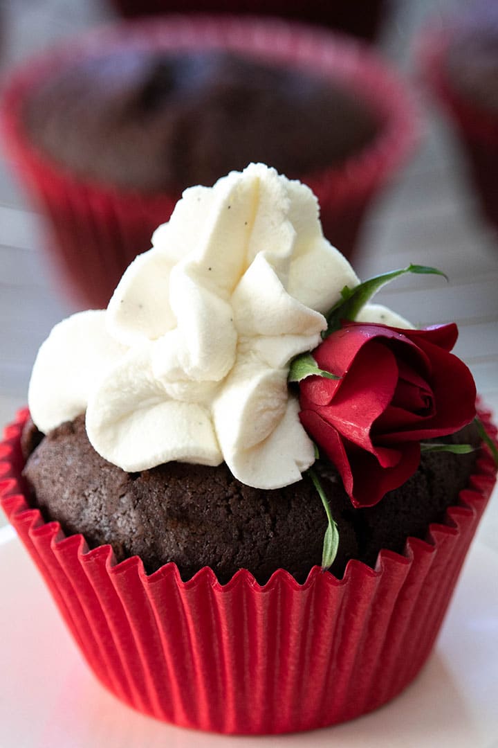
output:
<instances>
[{"instance_id":1,"label":"white surface under the frosted cupcake in front","mask_svg":"<svg viewBox=\"0 0 498 748\"><path fill-rule=\"evenodd\" d=\"M393 702L329 729L233 738L122 705L67 634L10 527L0 530L2 748L492 748L498 745L498 554L474 542L423 672Z\"/></svg>"}]
</instances>

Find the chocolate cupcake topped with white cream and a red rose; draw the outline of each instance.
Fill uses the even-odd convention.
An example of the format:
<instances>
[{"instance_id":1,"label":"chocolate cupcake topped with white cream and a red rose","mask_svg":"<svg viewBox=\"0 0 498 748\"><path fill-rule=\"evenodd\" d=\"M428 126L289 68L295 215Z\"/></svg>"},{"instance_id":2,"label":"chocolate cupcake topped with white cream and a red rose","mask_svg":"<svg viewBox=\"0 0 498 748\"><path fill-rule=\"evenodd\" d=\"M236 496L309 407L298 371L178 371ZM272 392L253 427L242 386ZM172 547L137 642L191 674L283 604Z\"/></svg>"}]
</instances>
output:
<instances>
[{"instance_id":1,"label":"chocolate cupcake topped with white cream and a red rose","mask_svg":"<svg viewBox=\"0 0 498 748\"><path fill-rule=\"evenodd\" d=\"M370 301L424 271L360 283L311 190L252 164L43 343L1 503L119 699L271 734L417 675L496 473L455 325Z\"/></svg>"}]
</instances>

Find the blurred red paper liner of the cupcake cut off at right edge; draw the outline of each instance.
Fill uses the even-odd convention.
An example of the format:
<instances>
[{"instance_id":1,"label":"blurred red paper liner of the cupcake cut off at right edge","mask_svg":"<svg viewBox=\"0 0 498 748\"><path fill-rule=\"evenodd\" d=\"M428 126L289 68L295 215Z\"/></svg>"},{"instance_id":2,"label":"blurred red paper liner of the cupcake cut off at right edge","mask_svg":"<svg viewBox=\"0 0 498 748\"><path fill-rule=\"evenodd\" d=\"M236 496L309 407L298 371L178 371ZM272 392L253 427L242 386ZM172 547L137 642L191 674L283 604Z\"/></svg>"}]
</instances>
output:
<instances>
[{"instance_id":1,"label":"blurred red paper liner of the cupcake cut off at right edge","mask_svg":"<svg viewBox=\"0 0 498 748\"><path fill-rule=\"evenodd\" d=\"M461 96L449 80L445 64L451 31L423 34L418 58L423 79L458 129L485 216L498 230L498 115Z\"/></svg>"}]
</instances>

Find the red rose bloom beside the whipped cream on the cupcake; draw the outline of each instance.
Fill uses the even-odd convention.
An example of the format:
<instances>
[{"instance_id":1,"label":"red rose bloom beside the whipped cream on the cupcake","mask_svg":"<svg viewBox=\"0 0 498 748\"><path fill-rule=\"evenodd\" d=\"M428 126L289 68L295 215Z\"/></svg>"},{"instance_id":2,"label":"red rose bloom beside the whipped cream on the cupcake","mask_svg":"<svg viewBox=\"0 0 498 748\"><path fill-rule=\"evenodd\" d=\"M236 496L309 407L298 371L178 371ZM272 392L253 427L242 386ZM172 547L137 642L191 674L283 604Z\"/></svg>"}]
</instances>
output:
<instances>
[{"instance_id":1,"label":"red rose bloom beside the whipped cream on the cupcake","mask_svg":"<svg viewBox=\"0 0 498 748\"><path fill-rule=\"evenodd\" d=\"M449 351L456 325L402 330L349 322L313 352L340 377L299 383L299 417L337 467L354 506L373 506L420 462L420 441L473 420L476 387Z\"/></svg>"}]
</instances>

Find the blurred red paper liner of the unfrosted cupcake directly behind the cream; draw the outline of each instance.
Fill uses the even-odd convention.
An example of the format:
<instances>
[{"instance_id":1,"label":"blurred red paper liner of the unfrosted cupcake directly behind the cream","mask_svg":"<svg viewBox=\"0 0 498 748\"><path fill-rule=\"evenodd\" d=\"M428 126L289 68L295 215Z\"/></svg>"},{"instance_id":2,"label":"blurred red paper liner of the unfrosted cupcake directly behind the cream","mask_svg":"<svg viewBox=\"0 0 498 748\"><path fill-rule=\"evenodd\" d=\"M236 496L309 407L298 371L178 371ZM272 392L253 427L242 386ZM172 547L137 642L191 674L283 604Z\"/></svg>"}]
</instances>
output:
<instances>
[{"instance_id":1,"label":"blurred red paper liner of the unfrosted cupcake directly behind the cream","mask_svg":"<svg viewBox=\"0 0 498 748\"><path fill-rule=\"evenodd\" d=\"M30 142L23 108L30 92L78 59L128 48L224 48L273 64L301 67L343 82L378 117L381 132L340 168L303 174L320 201L323 230L346 256L367 206L393 176L417 140L417 117L405 85L361 43L278 19L249 16L165 16L98 29L28 61L4 94L1 119L13 166L49 218L50 250L66 285L91 307L105 307L122 272L150 246L180 194L140 193L85 180ZM220 177L223 176L220 174Z\"/></svg>"}]
</instances>

